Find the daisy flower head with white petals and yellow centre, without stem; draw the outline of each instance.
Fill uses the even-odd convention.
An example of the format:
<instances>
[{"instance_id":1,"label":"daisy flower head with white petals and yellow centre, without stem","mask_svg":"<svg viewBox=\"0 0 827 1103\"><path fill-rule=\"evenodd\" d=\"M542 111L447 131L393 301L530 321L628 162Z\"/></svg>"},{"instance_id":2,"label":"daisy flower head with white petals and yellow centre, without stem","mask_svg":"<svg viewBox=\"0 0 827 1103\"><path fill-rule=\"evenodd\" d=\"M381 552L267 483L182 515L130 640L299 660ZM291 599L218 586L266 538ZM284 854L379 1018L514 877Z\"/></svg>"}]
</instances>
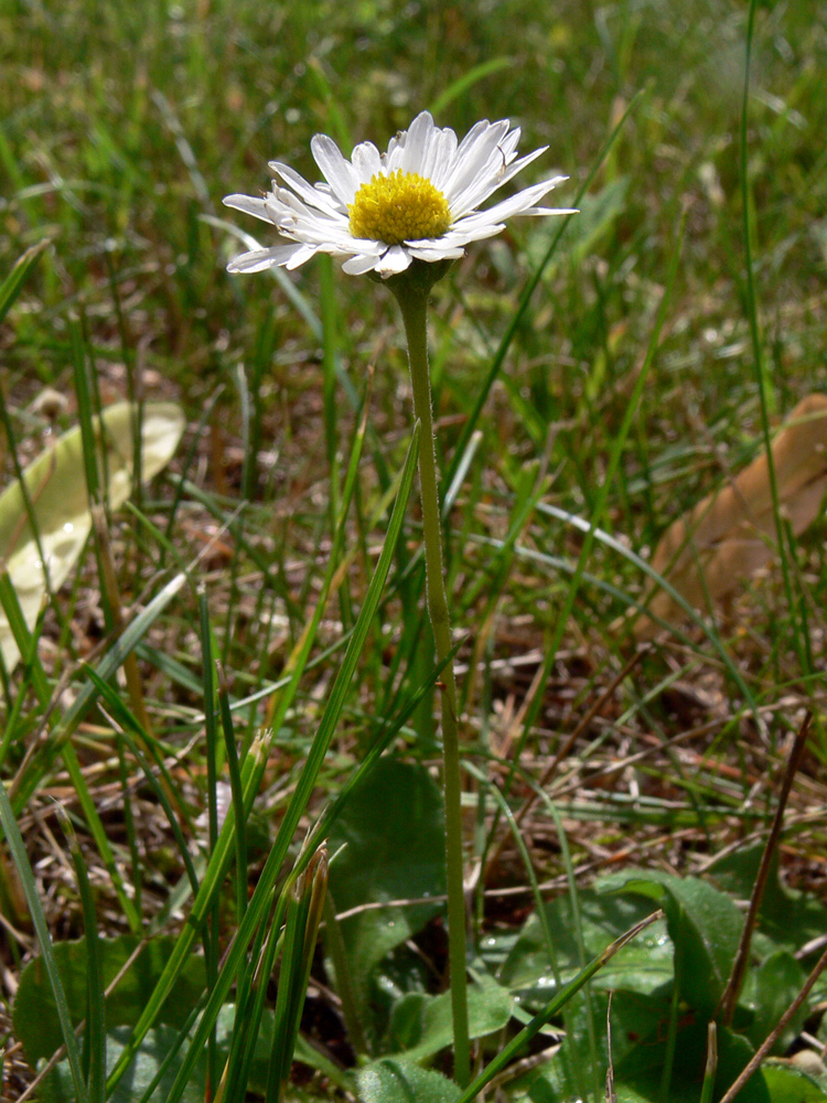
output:
<instances>
[{"instance_id":1,"label":"daisy flower head with white petals and yellow centre, without stem","mask_svg":"<svg viewBox=\"0 0 827 1103\"><path fill-rule=\"evenodd\" d=\"M351 275L377 272L387 279L415 259L461 257L469 242L493 237L514 215L573 214L537 206L566 176L544 180L479 210L548 148L515 160L519 128L508 127L508 119L484 120L458 143L453 130L434 126L429 113L422 111L409 130L390 139L386 153L362 142L350 161L332 138L316 135L310 148L325 183L311 185L289 165L271 161L279 179L269 195L224 200L227 206L272 223L292 243L243 253L227 270L298 268L316 253L330 253L346 258L342 267Z\"/></svg>"}]
</instances>

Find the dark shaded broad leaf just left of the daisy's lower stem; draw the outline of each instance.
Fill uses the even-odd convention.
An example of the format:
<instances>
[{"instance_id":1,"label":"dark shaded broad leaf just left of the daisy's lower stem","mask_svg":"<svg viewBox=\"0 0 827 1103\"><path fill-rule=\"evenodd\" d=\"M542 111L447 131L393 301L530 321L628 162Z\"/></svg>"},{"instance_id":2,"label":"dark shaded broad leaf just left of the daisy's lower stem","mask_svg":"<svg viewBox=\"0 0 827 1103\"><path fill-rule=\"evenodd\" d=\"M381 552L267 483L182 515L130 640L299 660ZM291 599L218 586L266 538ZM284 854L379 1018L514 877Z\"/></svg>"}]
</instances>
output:
<instances>
[{"instance_id":1,"label":"dark shaded broad leaf just left of the daisy's lower stem","mask_svg":"<svg viewBox=\"0 0 827 1103\"><path fill-rule=\"evenodd\" d=\"M444 893L442 796L425 767L380 759L340 815L330 853L335 855L330 888L337 912ZM367 1003L373 968L440 910L438 903L397 906L343 921L351 976L362 1005Z\"/></svg>"}]
</instances>

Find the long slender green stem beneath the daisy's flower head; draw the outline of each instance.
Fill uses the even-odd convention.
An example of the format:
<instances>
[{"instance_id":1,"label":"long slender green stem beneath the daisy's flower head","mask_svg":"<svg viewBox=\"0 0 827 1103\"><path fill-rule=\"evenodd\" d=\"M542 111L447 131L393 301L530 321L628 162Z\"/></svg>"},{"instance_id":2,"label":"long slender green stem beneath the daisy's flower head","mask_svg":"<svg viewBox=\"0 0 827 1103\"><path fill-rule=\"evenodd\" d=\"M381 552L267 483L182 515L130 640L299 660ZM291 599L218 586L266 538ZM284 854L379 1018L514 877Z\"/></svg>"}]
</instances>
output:
<instances>
[{"instance_id":1,"label":"long slender green stem beneath the daisy's flower head","mask_svg":"<svg viewBox=\"0 0 827 1103\"><path fill-rule=\"evenodd\" d=\"M426 592L428 613L437 645L437 661L451 651L451 621L442 568L442 528L440 525L437 457L431 415L431 379L428 367L428 293L430 288L415 279L398 280L393 286L405 321L408 362L414 387L414 414L422 426L419 437L419 491L425 534ZM454 1077L461 1088L471 1079L465 981L465 896L462 859L462 808L460 777L460 738L457 707L457 681L453 663L442 672L442 756L445 799L445 867L448 875L448 962L453 1013Z\"/></svg>"}]
</instances>

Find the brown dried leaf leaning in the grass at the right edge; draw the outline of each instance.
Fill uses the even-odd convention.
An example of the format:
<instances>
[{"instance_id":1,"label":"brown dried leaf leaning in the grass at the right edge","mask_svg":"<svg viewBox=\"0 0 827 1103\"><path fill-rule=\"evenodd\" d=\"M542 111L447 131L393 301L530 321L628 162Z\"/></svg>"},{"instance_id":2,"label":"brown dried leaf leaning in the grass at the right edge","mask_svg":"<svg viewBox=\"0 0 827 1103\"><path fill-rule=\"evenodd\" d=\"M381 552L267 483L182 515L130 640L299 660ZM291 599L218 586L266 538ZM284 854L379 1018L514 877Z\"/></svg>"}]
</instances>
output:
<instances>
[{"instance_id":1,"label":"brown dried leaf leaning in the grass at the right edge","mask_svg":"<svg viewBox=\"0 0 827 1103\"><path fill-rule=\"evenodd\" d=\"M827 491L827 395L802 399L772 445L778 504L796 536L815 521ZM766 453L708 495L666 531L652 566L696 609L720 604L775 556L775 520ZM664 590L648 602L654 617L680 620L683 610ZM658 625L642 618L638 640Z\"/></svg>"}]
</instances>

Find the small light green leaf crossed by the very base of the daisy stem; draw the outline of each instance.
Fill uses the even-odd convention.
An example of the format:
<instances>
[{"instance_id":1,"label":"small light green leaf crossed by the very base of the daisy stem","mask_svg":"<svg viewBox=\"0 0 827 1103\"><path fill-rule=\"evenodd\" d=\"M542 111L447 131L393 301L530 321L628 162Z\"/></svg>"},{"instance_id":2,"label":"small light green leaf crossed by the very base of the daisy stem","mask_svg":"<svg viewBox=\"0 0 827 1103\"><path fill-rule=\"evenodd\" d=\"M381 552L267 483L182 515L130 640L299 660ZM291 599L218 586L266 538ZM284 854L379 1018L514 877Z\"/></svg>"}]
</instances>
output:
<instances>
[{"instance_id":1,"label":"small light green leaf crossed by the very base of the daisy stem","mask_svg":"<svg viewBox=\"0 0 827 1103\"><path fill-rule=\"evenodd\" d=\"M490 978L468 989L469 1037L484 1038L502 1030L512 1017L512 999ZM453 1042L451 993L428 996L411 992L394 1006L389 1047L404 1061L423 1061Z\"/></svg>"}]
</instances>

